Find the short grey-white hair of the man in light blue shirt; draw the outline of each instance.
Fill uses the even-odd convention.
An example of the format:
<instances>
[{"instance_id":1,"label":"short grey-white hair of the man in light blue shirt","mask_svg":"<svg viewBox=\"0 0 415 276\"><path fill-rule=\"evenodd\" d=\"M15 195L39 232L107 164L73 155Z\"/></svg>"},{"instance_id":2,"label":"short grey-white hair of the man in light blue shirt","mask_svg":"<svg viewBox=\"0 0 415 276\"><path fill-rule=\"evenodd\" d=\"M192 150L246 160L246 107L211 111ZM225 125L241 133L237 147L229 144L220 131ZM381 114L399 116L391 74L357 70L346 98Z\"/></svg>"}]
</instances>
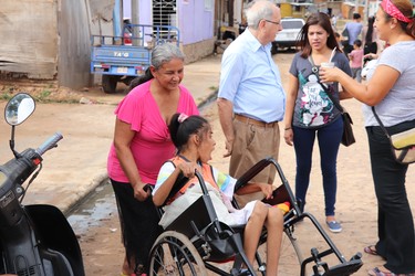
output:
<instances>
[{"instance_id":1,"label":"short grey-white hair of the man in light blue shirt","mask_svg":"<svg viewBox=\"0 0 415 276\"><path fill-rule=\"evenodd\" d=\"M262 19L272 20L272 7L274 6L276 3L270 0L256 0L250 2L245 10L248 26L257 30Z\"/></svg>"}]
</instances>

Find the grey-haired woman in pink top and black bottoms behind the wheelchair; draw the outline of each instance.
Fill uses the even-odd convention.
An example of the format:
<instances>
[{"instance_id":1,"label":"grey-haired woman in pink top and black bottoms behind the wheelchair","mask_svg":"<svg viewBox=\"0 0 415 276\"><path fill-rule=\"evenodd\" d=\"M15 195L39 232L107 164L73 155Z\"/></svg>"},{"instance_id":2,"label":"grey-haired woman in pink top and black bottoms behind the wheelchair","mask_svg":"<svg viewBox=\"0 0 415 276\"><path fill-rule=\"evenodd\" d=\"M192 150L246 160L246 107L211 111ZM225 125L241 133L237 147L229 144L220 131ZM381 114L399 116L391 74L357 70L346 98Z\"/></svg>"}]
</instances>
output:
<instances>
[{"instance_id":1,"label":"grey-haired woman in pink top and black bottoms behind the wheelchair","mask_svg":"<svg viewBox=\"0 0 415 276\"><path fill-rule=\"evenodd\" d=\"M154 185L165 160L175 155L168 132L176 113L198 115L190 93L180 85L184 55L165 43L152 53L153 78L136 86L118 104L107 171L126 250L122 275L145 274L147 257L159 234L158 214L146 184Z\"/></svg>"}]
</instances>

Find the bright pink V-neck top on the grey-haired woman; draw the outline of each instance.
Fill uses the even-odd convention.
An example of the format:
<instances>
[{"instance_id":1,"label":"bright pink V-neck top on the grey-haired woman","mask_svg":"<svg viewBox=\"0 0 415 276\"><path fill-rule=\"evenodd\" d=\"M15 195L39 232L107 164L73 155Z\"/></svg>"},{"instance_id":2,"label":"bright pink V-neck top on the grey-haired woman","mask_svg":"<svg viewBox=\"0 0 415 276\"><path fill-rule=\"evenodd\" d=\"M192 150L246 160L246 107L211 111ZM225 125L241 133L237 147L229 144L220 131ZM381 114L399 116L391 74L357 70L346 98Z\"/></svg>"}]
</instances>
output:
<instances>
[{"instance_id":1,"label":"bright pink V-neck top on the grey-haired woman","mask_svg":"<svg viewBox=\"0 0 415 276\"><path fill-rule=\"evenodd\" d=\"M162 164L174 157L175 146L157 103L149 92L152 82L146 82L131 91L118 104L115 114L122 121L131 124L131 129L136 131L131 141L131 150L142 181L155 184ZM198 115L199 112L190 93L181 85L179 88L177 113ZM107 172L115 181L129 182L116 157L114 144L110 149Z\"/></svg>"}]
</instances>

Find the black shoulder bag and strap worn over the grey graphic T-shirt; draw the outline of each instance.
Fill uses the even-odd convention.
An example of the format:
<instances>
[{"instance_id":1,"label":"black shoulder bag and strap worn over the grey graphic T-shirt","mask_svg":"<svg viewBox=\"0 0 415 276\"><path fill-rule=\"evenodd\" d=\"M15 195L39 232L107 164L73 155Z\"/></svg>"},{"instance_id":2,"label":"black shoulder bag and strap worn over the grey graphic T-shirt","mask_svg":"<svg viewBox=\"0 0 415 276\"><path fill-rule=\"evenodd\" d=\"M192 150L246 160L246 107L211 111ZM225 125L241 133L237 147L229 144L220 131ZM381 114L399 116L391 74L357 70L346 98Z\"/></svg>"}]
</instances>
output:
<instances>
[{"instance_id":1,"label":"black shoulder bag and strap worn over the grey graphic T-shirt","mask_svg":"<svg viewBox=\"0 0 415 276\"><path fill-rule=\"evenodd\" d=\"M352 128L352 125L353 125L353 120L352 120L352 117L350 116L350 114L340 105L339 100L335 99L333 97L333 95L331 94L331 92L329 91L329 88L325 86L325 84L322 84L320 82L320 76L319 76L319 70L317 68L317 66L314 65L314 62L313 60L311 59L311 55L309 55L309 62L311 63L311 65L313 66L312 67L312 72L317 75L318 79L319 79L319 84L320 86L324 89L325 94L329 96L329 98L331 99L331 102L333 102L333 105L339 109L339 112L342 114L342 117L343 117L343 136L342 136L342 145L345 146L345 147L349 147L350 145L354 144L356 141L356 139L354 138L354 134L353 134L353 128Z\"/></svg>"}]
</instances>

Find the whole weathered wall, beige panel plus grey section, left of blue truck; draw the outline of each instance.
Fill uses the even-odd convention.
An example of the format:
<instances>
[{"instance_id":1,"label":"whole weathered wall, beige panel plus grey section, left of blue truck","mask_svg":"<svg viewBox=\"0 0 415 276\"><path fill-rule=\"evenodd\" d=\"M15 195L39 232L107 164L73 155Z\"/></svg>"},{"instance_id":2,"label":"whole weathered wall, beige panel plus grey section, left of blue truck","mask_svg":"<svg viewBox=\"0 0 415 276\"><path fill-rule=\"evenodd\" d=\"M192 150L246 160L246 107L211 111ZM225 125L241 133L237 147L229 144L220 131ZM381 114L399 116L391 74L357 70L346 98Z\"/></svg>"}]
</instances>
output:
<instances>
[{"instance_id":1,"label":"whole weathered wall, beige panel plus grey section, left of blue truck","mask_svg":"<svg viewBox=\"0 0 415 276\"><path fill-rule=\"evenodd\" d=\"M114 0L1 0L2 78L91 84L91 33L113 34Z\"/></svg>"}]
</instances>

